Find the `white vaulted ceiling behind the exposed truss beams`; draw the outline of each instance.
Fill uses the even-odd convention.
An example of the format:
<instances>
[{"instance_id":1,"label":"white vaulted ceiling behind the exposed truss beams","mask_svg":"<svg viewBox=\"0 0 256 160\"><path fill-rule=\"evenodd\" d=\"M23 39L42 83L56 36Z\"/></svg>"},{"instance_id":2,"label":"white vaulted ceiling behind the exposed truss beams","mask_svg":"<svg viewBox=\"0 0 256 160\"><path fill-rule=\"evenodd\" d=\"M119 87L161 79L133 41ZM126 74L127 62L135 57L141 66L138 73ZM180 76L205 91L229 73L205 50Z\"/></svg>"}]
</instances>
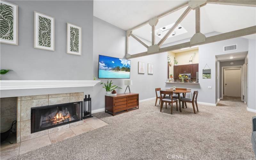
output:
<instances>
[{"instance_id":1,"label":"white vaulted ceiling behind the exposed truss beams","mask_svg":"<svg viewBox=\"0 0 256 160\"><path fill-rule=\"evenodd\" d=\"M170 10L186 1L94 1L94 16L124 30ZM187 7L159 19L156 29L174 23ZM195 11L191 10L180 23L188 32L167 38L164 44L191 38L195 34ZM206 4L201 8L201 32L225 33L256 25L256 7ZM151 27L145 25L133 34L151 42ZM244 36L255 39L256 36ZM156 36L156 43L160 38Z\"/></svg>"}]
</instances>

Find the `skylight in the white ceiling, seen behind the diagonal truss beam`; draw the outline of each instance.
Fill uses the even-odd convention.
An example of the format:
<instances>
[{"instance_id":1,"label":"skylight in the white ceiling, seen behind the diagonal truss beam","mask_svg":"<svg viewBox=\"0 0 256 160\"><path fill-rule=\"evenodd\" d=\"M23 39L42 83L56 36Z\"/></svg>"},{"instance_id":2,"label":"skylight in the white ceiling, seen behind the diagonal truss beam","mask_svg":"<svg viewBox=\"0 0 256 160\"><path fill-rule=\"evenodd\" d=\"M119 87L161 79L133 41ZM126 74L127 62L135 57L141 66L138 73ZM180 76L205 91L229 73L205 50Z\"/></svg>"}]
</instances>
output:
<instances>
[{"instance_id":1,"label":"skylight in the white ceiling, seen behind the diagonal truss beam","mask_svg":"<svg viewBox=\"0 0 256 160\"><path fill-rule=\"evenodd\" d=\"M156 36L158 36L159 38L163 38L164 35L168 32L169 29L172 28L172 26L174 25L174 23L172 24L169 24L165 27L162 27L162 28L159 28L159 29L156 29L155 33L156 33ZM178 36L178 35L181 35L181 34L184 34L184 33L187 33L188 31L182 27L180 24L172 31L172 33L170 34L170 36L168 36L168 38L170 37L173 37L173 36ZM151 32L152 33L152 32Z\"/></svg>"}]
</instances>

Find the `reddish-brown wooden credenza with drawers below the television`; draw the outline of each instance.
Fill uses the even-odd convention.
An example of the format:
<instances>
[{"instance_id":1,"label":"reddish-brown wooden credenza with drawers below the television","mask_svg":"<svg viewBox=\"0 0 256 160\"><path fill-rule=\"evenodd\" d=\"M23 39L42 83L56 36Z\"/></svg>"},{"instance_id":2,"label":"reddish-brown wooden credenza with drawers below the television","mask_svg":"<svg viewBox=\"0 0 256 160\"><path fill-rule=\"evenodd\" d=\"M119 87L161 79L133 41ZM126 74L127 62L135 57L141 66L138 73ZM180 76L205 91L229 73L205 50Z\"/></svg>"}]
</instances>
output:
<instances>
[{"instance_id":1,"label":"reddish-brown wooden credenza with drawers below the television","mask_svg":"<svg viewBox=\"0 0 256 160\"><path fill-rule=\"evenodd\" d=\"M138 93L121 93L116 96L105 96L105 112L113 116L139 109Z\"/></svg>"}]
</instances>

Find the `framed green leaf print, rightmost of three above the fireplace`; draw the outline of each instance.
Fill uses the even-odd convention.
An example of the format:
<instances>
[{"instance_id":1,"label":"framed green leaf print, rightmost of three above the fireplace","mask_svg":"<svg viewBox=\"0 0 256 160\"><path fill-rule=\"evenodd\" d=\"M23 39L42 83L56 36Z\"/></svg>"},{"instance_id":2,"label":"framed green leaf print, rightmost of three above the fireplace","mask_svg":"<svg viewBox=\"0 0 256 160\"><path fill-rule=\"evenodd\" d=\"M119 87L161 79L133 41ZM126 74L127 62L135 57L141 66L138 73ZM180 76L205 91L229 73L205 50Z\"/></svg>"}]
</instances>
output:
<instances>
[{"instance_id":1,"label":"framed green leaf print, rightmost of three above the fireplace","mask_svg":"<svg viewBox=\"0 0 256 160\"><path fill-rule=\"evenodd\" d=\"M67 53L81 56L82 28L67 23Z\"/></svg>"}]
</instances>

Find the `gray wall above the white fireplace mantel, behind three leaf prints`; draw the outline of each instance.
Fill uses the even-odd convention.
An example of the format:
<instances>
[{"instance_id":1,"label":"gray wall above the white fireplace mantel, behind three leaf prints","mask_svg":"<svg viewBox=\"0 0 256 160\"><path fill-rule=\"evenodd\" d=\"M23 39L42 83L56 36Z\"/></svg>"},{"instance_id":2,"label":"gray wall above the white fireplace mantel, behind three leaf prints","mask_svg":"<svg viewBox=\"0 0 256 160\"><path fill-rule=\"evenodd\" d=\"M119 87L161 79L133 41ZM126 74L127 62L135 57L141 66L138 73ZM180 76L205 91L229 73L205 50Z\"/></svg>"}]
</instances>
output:
<instances>
[{"instance_id":1,"label":"gray wall above the white fireplace mantel, behind three leaf prints","mask_svg":"<svg viewBox=\"0 0 256 160\"><path fill-rule=\"evenodd\" d=\"M2 80L92 80L93 1L12 1L19 45L1 43ZM55 51L34 48L34 11L55 18ZM82 27L82 55L67 54L67 22Z\"/></svg>"}]
</instances>

